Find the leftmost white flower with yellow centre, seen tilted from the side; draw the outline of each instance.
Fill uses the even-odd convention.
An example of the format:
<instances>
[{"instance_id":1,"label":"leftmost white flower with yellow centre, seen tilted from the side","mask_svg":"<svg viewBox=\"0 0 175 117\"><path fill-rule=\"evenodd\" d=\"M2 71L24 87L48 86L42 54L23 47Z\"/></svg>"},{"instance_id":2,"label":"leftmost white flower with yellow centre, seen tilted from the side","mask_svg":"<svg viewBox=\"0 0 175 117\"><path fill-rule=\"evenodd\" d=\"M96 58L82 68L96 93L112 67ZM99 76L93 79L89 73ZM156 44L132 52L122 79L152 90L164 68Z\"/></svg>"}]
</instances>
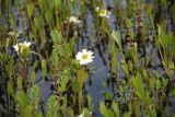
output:
<instances>
[{"instance_id":1,"label":"leftmost white flower with yellow centre, seen tilted from the side","mask_svg":"<svg viewBox=\"0 0 175 117\"><path fill-rule=\"evenodd\" d=\"M16 44L15 46L13 46L13 48L15 49L15 51L19 51L22 52L24 49L28 48L31 46L31 43L19 43Z\"/></svg>"}]
</instances>

